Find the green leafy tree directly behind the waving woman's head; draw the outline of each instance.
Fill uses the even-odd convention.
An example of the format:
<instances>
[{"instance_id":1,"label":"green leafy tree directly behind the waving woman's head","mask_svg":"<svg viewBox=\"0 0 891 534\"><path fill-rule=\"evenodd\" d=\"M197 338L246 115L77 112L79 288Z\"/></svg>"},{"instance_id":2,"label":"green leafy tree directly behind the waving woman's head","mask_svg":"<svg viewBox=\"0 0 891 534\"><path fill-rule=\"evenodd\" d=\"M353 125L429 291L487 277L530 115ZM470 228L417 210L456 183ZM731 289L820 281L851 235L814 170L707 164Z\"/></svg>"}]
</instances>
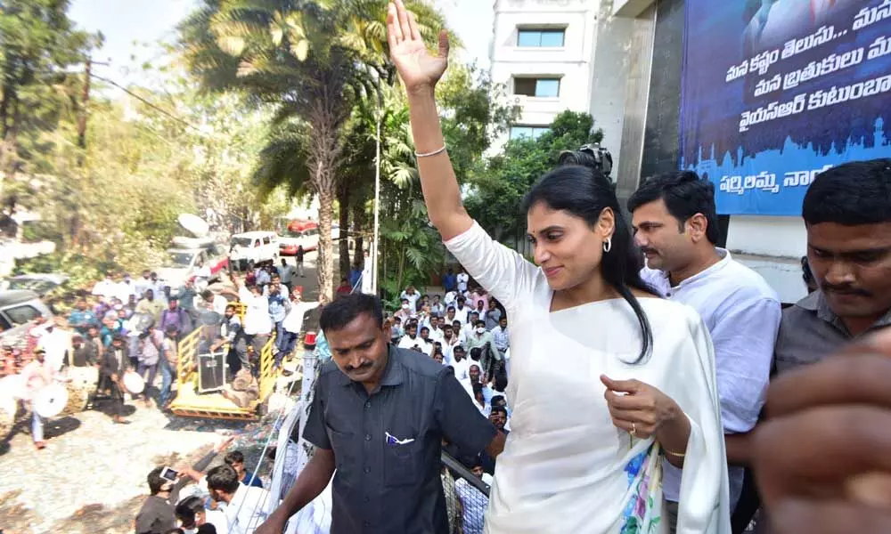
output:
<instances>
[{"instance_id":1,"label":"green leafy tree directly behind the waving woman's head","mask_svg":"<svg viewBox=\"0 0 891 534\"><path fill-rule=\"evenodd\" d=\"M532 184L550 171L562 150L601 142L603 132L593 129L587 113L563 111L548 132L537 139L508 142L502 154L489 158L486 168L474 174L464 205L494 239L518 239L526 229L520 203Z\"/></svg>"}]
</instances>

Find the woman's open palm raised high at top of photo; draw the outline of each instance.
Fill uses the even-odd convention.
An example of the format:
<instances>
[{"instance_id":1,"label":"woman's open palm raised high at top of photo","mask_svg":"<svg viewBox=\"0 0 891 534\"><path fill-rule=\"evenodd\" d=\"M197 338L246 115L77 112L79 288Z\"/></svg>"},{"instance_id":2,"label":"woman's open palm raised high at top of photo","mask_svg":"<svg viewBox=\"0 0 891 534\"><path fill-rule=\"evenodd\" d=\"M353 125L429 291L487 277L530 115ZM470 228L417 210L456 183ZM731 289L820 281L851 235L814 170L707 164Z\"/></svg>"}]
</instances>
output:
<instances>
[{"instance_id":1,"label":"woman's open palm raised high at top of photo","mask_svg":"<svg viewBox=\"0 0 891 534\"><path fill-rule=\"evenodd\" d=\"M405 9L402 0L395 0L388 6L387 40L390 58L396 63L406 91L424 91L437 85L448 67L449 44L445 29L439 33L437 55L429 53L414 15Z\"/></svg>"}]
</instances>

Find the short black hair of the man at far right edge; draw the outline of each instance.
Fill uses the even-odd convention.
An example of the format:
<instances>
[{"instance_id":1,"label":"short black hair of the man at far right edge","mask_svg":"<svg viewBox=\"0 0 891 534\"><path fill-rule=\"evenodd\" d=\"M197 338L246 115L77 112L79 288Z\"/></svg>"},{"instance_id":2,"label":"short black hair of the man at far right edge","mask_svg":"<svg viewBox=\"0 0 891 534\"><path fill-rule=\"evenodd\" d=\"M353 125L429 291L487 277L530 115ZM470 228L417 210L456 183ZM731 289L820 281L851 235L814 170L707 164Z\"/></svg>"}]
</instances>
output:
<instances>
[{"instance_id":1,"label":"short black hair of the man at far right edge","mask_svg":"<svg viewBox=\"0 0 891 534\"><path fill-rule=\"evenodd\" d=\"M891 159L853 161L818 174L801 214L807 224L891 222Z\"/></svg>"}]
</instances>

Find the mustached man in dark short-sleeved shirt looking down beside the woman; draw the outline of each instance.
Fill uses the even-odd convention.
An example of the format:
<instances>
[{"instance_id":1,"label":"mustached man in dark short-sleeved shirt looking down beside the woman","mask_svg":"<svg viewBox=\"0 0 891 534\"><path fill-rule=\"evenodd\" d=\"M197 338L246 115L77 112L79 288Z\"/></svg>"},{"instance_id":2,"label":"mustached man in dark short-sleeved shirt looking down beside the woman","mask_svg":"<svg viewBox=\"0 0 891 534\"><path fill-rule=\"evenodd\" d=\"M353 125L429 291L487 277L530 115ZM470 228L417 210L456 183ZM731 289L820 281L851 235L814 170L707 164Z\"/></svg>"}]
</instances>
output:
<instances>
[{"instance_id":1,"label":"mustached man in dark short-sleeved shirt looking down beside the woman","mask_svg":"<svg viewBox=\"0 0 891 534\"><path fill-rule=\"evenodd\" d=\"M332 361L316 381L303 434L315 455L257 534L280 534L331 474L331 534L446 534L443 438L495 457L503 433L480 415L451 368L388 343L376 296L341 297L324 308L320 326Z\"/></svg>"}]
</instances>

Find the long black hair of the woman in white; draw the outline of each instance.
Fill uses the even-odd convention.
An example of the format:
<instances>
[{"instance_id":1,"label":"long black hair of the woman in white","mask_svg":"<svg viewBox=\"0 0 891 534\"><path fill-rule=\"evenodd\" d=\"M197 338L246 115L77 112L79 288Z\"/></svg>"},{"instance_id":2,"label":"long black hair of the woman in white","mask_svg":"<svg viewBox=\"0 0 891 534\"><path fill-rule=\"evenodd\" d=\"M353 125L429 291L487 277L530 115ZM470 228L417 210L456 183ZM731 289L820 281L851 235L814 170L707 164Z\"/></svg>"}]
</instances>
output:
<instances>
[{"instance_id":1,"label":"long black hair of the woman in white","mask_svg":"<svg viewBox=\"0 0 891 534\"><path fill-rule=\"evenodd\" d=\"M642 346L638 359L639 362L647 357L653 345L653 332L650 328L650 320L643 312L641 303L631 292L631 288L637 288L648 293L654 293L652 287L641 279L643 257L636 246L630 226L619 209L618 199L613 190L612 183L601 173L600 169L593 165L585 165L589 158L587 154L570 152L573 158L560 158L561 165L545 174L535 182L532 189L523 199L523 211L535 206L538 202L554 210L563 210L576 217L584 219L585 223L593 228L600 220L601 212L609 207L616 218L616 228L612 235L612 247L609 252L603 253L601 260L601 274L606 282L614 287L619 295L634 310L634 315L641 325ZM577 162L577 163L576 163ZM582 165L577 165L582 164Z\"/></svg>"}]
</instances>

